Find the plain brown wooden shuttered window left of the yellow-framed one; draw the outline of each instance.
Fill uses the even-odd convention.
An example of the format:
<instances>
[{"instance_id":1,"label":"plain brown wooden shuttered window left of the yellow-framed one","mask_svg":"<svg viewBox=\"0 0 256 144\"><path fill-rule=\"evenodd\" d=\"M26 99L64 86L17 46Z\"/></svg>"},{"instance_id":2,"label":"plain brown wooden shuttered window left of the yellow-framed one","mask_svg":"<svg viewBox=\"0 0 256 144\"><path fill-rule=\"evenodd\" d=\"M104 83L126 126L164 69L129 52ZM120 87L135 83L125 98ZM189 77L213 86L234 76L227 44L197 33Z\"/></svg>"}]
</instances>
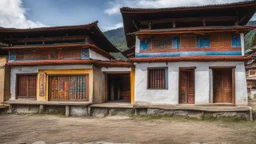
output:
<instances>
[{"instance_id":1,"label":"plain brown wooden shuttered window left of the yellow-framed one","mask_svg":"<svg viewBox=\"0 0 256 144\"><path fill-rule=\"evenodd\" d=\"M36 98L36 75L17 75L17 98Z\"/></svg>"}]
</instances>

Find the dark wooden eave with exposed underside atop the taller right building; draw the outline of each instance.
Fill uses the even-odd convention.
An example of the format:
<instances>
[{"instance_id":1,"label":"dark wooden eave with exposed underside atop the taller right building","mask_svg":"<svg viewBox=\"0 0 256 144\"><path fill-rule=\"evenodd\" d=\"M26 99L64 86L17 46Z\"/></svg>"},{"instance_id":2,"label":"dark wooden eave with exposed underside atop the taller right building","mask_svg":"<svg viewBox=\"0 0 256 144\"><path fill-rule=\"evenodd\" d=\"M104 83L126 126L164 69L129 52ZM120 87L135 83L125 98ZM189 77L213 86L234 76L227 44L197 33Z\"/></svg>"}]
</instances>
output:
<instances>
[{"instance_id":1,"label":"dark wooden eave with exposed underside atop the taller right building","mask_svg":"<svg viewBox=\"0 0 256 144\"><path fill-rule=\"evenodd\" d=\"M141 29L191 26L246 25L256 11L256 1L174 8L121 8L127 47L135 44L130 33Z\"/></svg>"}]
</instances>

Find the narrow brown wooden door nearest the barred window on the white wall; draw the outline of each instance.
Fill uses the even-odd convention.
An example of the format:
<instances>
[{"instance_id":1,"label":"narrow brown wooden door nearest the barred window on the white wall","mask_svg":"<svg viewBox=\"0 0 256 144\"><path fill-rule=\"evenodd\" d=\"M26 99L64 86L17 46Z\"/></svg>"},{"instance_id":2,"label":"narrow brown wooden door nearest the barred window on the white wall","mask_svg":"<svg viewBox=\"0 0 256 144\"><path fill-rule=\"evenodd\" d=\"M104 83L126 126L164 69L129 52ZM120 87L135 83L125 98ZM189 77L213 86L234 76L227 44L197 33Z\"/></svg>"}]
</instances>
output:
<instances>
[{"instance_id":1,"label":"narrow brown wooden door nearest the barred window on the white wall","mask_svg":"<svg viewBox=\"0 0 256 144\"><path fill-rule=\"evenodd\" d=\"M195 75L194 70L180 71L179 103L195 103Z\"/></svg>"}]
</instances>

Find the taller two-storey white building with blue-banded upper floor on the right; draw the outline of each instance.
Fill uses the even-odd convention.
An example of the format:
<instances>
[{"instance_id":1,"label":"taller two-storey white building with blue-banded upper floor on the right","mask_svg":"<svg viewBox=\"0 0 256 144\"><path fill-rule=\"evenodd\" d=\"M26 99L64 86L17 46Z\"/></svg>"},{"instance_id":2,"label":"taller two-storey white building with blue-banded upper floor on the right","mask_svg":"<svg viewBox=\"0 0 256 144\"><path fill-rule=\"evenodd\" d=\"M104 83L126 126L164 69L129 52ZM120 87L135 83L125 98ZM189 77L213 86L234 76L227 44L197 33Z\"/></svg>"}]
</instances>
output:
<instances>
[{"instance_id":1,"label":"taller two-storey white building with blue-banded upper floor on the right","mask_svg":"<svg viewBox=\"0 0 256 144\"><path fill-rule=\"evenodd\" d=\"M256 2L121 8L136 104L247 105L244 35Z\"/></svg>"}]
</instances>

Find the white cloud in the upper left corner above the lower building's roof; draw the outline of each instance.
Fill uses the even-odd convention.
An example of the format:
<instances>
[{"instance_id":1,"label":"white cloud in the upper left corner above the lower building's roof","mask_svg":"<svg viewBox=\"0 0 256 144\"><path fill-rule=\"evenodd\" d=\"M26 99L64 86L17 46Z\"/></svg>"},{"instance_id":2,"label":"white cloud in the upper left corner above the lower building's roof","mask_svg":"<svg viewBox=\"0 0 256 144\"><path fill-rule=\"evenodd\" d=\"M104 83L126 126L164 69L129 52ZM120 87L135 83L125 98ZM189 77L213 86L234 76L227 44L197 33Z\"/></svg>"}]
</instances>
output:
<instances>
[{"instance_id":1,"label":"white cloud in the upper left corner above the lower building's roof","mask_svg":"<svg viewBox=\"0 0 256 144\"><path fill-rule=\"evenodd\" d=\"M21 0L0 0L0 27L6 28L34 28L45 27L40 22L28 20L26 10Z\"/></svg>"}]
</instances>

